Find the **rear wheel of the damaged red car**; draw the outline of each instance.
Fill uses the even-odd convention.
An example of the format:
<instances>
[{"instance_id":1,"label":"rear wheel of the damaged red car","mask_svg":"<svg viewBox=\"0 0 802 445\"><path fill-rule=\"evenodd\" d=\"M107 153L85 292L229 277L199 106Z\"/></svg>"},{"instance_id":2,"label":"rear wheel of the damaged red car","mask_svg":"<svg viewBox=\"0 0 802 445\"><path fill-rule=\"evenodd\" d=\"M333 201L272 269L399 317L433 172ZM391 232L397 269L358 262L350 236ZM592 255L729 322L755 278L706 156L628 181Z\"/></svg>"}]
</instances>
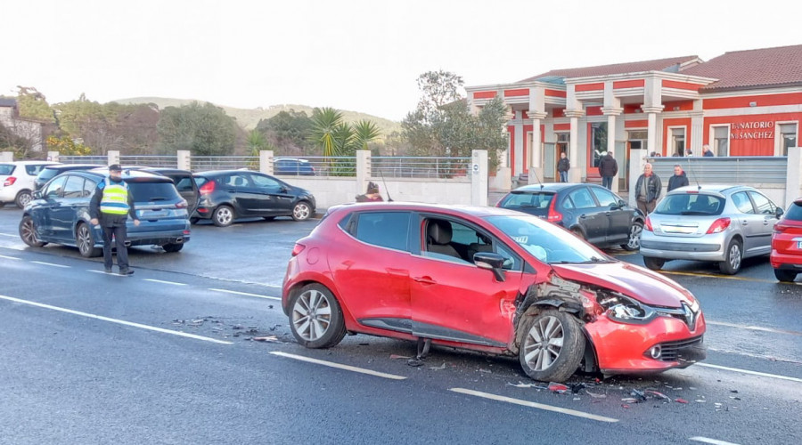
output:
<instances>
[{"instance_id":1,"label":"rear wheel of the damaged red car","mask_svg":"<svg viewBox=\"0 0 802 445\"><path fill-rule=\"evenodd\" d=\"M346 335L340 303L323 285L304 286L292 296L289 307L292 335L307 348L331 348Z\"/></svg>"}]
</instances>

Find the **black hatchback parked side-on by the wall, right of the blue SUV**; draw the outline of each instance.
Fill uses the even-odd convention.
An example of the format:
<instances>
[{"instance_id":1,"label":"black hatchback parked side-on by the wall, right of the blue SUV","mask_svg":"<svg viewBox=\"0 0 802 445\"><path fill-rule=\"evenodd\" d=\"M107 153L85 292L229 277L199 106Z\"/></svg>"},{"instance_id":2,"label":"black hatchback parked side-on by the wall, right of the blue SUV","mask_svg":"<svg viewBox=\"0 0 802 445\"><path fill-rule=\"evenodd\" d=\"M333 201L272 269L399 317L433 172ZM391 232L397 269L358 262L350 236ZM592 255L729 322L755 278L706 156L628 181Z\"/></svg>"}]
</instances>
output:
<instances>
[{"instance_id":1,"label":"black hatchback parked side-on by the wall, right of the blue SUV","mask_svg":"<svg viewBox=\"0 0 802 445\"><path fill-rule=\"evenodd\" d=\"M192 222L211 219L218 227L236 218L291 216L305 221L315 214L315 197L268 174L249 170L218 170L195 174L201 186L201 203Z\"/></svg>"}]
</instances>

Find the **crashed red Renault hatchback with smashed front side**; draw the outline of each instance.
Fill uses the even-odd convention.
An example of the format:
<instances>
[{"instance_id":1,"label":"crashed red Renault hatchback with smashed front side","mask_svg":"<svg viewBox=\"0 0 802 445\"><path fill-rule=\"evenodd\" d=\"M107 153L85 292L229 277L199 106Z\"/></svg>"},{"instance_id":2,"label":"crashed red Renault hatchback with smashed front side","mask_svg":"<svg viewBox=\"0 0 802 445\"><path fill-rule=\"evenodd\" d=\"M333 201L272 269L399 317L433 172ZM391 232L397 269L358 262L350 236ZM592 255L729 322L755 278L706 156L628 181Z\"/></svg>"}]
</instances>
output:
<instances>
[{"instance_id":1,"label":"crashed red Renault hatchback with smashed front side","mask_svg":"<svg viewBox=\"0 0 802 445\"><path fill-rule=\"evenodd\" d=\"M347 333L517 355L536 380L686 368L705 358L697 299L536 216L495 207L332 207L292 250L292 334Z\"/></svg>"}]
</instances>

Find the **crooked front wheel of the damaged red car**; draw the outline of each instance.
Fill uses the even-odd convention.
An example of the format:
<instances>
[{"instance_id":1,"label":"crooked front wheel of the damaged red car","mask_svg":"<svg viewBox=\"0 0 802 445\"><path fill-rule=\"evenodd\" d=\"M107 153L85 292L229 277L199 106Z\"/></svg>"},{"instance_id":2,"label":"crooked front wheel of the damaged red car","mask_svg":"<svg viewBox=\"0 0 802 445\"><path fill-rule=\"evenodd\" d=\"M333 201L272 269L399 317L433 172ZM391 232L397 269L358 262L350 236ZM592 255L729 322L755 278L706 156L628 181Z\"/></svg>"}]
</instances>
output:
<instances>
[{"instance_id":1,"label":"crooked front wheel of the damaged red car","mask_svg":"<svg viewBox=\"0 0 802 445\"><path fill-rule=\"evenodd\" d=\"M565 382L577 372L585 356L585 334L579 320L552 309L525 317L520 327L521 368L535 380Z\"/></svg>"}]
</instances>

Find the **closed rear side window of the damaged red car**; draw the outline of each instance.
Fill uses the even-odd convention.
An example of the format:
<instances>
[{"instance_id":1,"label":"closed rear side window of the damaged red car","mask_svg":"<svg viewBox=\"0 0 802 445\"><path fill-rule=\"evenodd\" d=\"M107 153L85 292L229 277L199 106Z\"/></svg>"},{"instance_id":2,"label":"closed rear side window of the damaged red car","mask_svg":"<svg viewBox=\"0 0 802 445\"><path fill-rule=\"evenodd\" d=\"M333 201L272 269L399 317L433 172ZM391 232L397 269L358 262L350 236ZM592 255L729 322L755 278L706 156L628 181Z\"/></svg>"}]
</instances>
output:
<instances>
[{"instance_id":1,"label":"closed rear side window of the damaged red car","mask_svg":"<svg viewBox=\"0 0 802 445\"><path fill-rule=\"evenodd\" d=\"M408 251L409 212L366 212L358 214L356 232L367 244Z\"/></svg>"}]
</instances>

